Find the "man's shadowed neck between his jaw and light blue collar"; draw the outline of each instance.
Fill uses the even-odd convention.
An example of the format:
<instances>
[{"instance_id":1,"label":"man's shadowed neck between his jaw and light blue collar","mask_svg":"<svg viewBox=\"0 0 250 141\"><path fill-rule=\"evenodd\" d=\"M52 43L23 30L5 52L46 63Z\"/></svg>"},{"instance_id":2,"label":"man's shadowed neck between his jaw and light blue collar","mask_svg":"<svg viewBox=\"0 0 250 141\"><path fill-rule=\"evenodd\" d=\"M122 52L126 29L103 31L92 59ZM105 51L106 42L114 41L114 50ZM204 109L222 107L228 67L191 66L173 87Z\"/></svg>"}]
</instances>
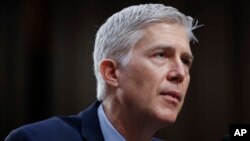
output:
<instances>
[{"instance_id":1,"label":"man's shadowed neck between his jaw and light blue collar","mask_svg":"<svg viewBox=\"0 0 250 141\"><path fill-rule=\"evenodd\" d=\"M103 101L104 112L116 130L128 141L150 141L159 126L113 98Z\"/></svg>"}]
</instances>

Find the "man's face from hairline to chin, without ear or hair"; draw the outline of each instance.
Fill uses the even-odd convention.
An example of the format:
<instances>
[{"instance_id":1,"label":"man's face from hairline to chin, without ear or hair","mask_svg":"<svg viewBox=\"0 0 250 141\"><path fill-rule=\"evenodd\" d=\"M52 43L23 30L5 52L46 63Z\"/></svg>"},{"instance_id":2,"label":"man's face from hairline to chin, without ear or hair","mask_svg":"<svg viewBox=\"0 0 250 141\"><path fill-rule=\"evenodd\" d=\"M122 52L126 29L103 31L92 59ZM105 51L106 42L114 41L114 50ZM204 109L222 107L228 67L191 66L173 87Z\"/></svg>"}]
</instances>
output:
<instances>
[{"instance_id":1,"label":"man's face from hairline to chin, without ear or hair","mask_svg":"<svg viewBox=\"0 0 250 141\"><path fill-rule=\"evenodd\" d=\"M192 53L187 31L178 24L145 28L126 68L118 70L118 99L131 116L172 123L188 89Z\"/></svg>"}]
</instances>

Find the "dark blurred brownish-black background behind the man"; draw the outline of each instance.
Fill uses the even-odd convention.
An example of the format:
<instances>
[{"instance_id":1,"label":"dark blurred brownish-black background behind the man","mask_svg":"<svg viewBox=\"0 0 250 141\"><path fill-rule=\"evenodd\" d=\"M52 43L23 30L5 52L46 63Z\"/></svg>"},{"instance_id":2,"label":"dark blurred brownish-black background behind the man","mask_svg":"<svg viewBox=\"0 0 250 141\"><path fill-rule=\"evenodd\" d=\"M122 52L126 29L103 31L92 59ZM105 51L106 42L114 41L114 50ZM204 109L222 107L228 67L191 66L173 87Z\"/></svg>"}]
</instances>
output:
<instances>
[{"instance_id":1,"label":"dark blurred brownish-black background behind the man","mask_svg":"<svg viewBox=\"0 0 250 141\"><path fill-rule=\"evenodd\" d=\"M27 123L76 114L96 98L98 27L139 3L163 3L205 26L195 30L191 85L169 141L220 141L250 123L250 3L246 0L0 1L0 140Z\"/></svg>"}]
</instances>

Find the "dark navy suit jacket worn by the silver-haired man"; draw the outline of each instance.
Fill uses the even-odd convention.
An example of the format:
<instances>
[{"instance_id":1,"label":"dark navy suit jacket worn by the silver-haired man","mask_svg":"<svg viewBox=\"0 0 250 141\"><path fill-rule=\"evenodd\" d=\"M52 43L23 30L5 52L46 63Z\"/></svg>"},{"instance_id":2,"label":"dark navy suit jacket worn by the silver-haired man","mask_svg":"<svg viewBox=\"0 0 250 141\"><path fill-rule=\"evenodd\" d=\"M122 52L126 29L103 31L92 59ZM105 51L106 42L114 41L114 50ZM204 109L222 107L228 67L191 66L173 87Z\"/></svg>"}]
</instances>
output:
<instances>
[{"instance_id":1,"label":"dark navy suit jacket worn by the silver-haired man","mask_svg":"<svg viewBox=\"0 0 250 141\"><path fill-rule=\"evenodd\" d=\"M22 126L5 141L104 141L97 115L99 105L100 102L95 102L78 115L52 117Z\"/></svg>"}]
</instances>

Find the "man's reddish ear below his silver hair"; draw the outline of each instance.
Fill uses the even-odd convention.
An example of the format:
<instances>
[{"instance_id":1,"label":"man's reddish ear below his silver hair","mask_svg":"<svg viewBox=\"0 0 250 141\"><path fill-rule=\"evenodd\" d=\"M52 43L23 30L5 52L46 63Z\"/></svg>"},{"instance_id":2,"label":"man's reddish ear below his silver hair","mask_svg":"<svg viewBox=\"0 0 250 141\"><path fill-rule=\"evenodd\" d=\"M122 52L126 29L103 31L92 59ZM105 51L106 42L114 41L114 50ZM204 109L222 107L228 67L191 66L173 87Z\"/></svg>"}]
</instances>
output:
<instances>
[{"instance_id":1,"label":"man's reddish ear below his silver hair","mask_svg":"<svg viewBox=\"0 0 250 141\"><path fill-rule=\"evenodd\" d=\"M112 59L104 59L100 63L100 73L102 75L103 80L111 85L111 86L118 86L117 80L117 63Z\"/></svg>"}]
</instances>

